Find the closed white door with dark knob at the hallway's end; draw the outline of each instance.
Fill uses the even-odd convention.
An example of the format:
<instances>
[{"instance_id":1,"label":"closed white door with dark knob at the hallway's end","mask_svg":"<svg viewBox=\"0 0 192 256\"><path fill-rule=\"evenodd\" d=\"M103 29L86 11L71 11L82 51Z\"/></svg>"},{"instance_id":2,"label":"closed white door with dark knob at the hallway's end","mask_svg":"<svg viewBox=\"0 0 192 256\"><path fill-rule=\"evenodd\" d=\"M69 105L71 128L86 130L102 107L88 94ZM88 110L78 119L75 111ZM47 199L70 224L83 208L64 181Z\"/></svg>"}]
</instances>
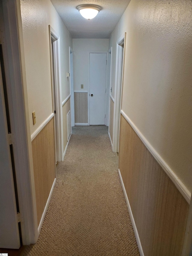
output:
<instances>
[{"instance_id":1,"label":"closed white door with dark knob at the hallway's end","mask_svg":"<svg viewBox=\"0 0 192 256\"><path fill-rule=\"evenodd\" d=\"M107 53L90 53L90 125L105 125Z\"/></svg>"}]
</instances>

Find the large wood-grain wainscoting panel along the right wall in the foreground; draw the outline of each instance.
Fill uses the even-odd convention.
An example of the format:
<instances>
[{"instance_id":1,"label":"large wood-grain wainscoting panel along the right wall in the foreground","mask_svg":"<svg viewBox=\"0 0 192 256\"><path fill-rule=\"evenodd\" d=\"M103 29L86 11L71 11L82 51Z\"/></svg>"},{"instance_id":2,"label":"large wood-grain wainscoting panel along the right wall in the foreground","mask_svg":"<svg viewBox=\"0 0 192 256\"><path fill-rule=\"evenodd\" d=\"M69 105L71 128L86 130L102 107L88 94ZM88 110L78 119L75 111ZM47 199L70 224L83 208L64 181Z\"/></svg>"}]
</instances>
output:
<instances>
[{"instance_id":1,"label":"large wood-grain wainscoting panel along the right wall in the foreground","mask_svg":"<svg viewBox=\"0 0 192 256\"><path fill-rule=\"evenodd\" d=\"M189 205L122 114L119 170L144 255L181 255Z\"/></svg>"}]
</instances>

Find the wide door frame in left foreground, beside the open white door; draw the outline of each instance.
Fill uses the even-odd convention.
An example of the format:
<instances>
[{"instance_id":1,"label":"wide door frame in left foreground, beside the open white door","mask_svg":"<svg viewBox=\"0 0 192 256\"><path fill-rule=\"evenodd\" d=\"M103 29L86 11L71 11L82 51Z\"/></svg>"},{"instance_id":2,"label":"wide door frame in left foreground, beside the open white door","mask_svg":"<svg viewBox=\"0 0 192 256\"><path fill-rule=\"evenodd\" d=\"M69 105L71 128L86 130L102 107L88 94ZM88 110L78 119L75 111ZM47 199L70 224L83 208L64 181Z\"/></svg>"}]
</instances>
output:
<instances>
[{"instance_id":1,"label":"wide door frame in left foreground, beside the open white door","mask_svg":"<svg viewBox=\"0 0 192 256\"><path fill-rule=\"evenodd\" d=\"M4 34L4 65L6 69L19 212L22 214L22 221L20 222L21 234L23 245L28 245L37 242L38 222L20 0L4 0L2 6L4 27L1 29Z\"/></svg>"}]
</instances>

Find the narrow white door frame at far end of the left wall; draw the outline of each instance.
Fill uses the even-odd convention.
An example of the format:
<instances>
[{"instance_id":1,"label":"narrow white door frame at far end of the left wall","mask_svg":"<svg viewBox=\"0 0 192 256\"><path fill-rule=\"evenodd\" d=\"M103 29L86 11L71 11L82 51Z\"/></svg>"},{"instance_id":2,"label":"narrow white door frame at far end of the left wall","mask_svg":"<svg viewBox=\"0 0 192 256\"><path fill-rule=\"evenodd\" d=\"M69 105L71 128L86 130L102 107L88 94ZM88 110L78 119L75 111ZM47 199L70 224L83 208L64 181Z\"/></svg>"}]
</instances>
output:
<instances>
[{"instance_id":1,"label":"narrow white door frame at far end of the left wall","mask_svg":"<svg viewBox=\"0 0 192 256\"><path fill-rule=\"evenodd\" d=\"M72 63L71 63L72 54ZM72 64L72 65L71 65ZM75 105L74 105L74 86L73 86L73 72L71 68L73 67L73 49L69 47L69 74L70 74L70 108L71 108L71 126L75 126Z\"/></svg>"}]
</instances>

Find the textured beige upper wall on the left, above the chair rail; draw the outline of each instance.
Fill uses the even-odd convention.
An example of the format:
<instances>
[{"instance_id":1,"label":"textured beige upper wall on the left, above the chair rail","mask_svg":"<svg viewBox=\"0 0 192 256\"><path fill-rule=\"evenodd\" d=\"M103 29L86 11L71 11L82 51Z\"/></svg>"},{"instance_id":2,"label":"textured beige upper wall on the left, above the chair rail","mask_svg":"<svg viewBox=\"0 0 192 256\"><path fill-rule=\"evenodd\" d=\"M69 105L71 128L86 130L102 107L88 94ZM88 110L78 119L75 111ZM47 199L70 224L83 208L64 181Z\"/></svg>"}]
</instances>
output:
<instances>
[{"instance_id":1,"label":"textured beige upper wall on the left, above the chair rail","mask_svg":"<svg viewBox=\"0 0 192 256\"><path fill-rule=\"evenodd\" d=\"M62 101L70 94L69 46L72 38L49 0L21 0L31 134L52 113L49 28L60 36ZM36 114L33 125L32 112Z\"/></svg>"}]
</instances>

